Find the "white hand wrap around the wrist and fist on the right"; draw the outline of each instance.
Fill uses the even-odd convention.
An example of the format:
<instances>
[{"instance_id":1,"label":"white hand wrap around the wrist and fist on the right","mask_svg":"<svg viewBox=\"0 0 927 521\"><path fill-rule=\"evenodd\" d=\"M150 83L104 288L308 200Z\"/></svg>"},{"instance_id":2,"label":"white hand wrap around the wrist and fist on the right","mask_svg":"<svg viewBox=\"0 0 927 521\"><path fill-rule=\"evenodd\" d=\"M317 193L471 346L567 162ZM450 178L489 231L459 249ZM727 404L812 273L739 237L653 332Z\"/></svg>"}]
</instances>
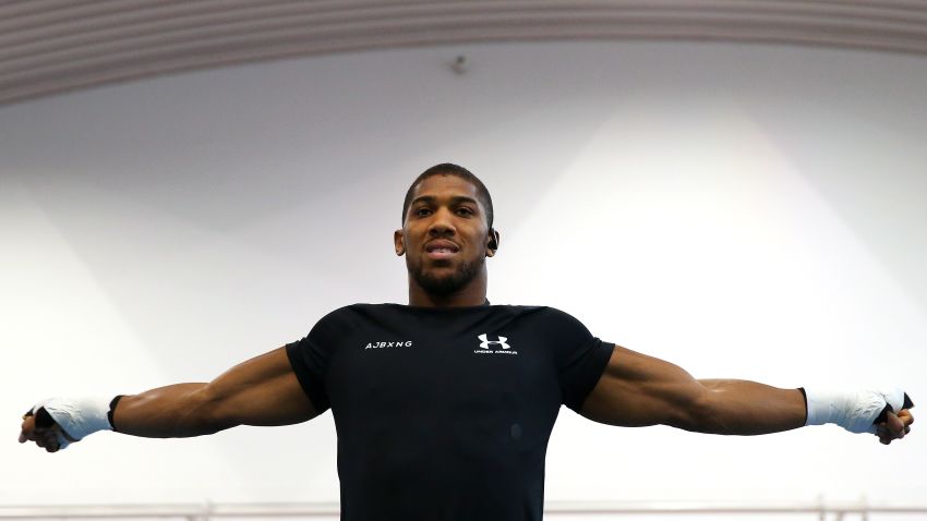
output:
<instances>
[{"instance_id":1,"label":"white hand wrap around the wrist and fist on the right","mask_svg":"<svg viewBox=\"0 0 927 521\"><path fill-rule=\"evenodd\" d=\"M834 390L805 388L808 399L808 420L805 425L834 423L851 433L876 433L874 423L891 405L894 412L904 405L904 391L883 388L878 390Z\"/></svg>"}]
</instances>

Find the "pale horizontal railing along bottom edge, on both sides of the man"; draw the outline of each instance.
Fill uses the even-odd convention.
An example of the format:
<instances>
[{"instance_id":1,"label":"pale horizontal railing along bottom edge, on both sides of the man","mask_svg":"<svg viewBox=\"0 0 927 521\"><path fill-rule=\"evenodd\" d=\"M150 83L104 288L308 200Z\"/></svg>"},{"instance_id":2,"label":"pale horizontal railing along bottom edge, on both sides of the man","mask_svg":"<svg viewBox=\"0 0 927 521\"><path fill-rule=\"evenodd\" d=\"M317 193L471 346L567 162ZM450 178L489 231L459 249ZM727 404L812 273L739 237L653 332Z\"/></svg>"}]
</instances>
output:
<instances>
[{"instance_id":1,"label":"pale horizontal railing along bottom edge, on both sides of the man","mask_svg":"<svg viewBox=\"0 0 927 521\"><path fill-rule=\"evenodd\" d=\"M655 514L679 517L685 514L804 514L817 519L841 521L847 516L867 520L870 514L922 514L927 517L927 505L867 505L856 502L612 502L612 501L547 501L544 512L549 517L607 514ZM302 504L177 504L177 505L58 505L58 506L0 506L0 519L182 519L212 521L231 518L329 518L337 519L337 502Z\"/></svg>"}]
</instances>

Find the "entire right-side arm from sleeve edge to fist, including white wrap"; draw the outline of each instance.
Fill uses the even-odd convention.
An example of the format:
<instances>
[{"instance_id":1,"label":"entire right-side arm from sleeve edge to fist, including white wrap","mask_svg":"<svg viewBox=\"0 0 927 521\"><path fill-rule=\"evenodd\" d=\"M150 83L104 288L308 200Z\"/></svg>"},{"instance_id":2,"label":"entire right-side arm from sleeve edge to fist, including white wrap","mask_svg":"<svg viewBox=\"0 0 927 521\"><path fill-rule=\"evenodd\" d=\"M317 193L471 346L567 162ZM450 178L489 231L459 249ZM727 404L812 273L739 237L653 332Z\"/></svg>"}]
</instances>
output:
<instances>
[{"instance_id":1,"label":"entire right-side arm from sleeve edge to fist, including white wrap","mask_svg":"<svg viewBox=\"0 0 927 521\"><path fill-rule=\"evenodd\" d=\"M610 425L744 436L833 423L875 433L883 444L903 437L914 421L914 404L901 389L806 392L807 403L799 389L696 379L677 365L616 346L581 414Z\"/></svg>"}]
</instances>

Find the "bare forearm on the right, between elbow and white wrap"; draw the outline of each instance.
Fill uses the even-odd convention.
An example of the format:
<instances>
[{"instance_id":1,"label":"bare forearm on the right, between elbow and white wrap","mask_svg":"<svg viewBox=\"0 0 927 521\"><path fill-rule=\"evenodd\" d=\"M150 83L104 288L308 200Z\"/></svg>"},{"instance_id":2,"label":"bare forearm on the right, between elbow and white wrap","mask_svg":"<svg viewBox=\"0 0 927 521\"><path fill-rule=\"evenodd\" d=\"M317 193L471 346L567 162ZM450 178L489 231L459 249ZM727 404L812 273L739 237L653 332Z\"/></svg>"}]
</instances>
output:
<instances>
[{"instance_id":1,"label":"bare forearm on the right, between elbow and white wrap","mask_svg":"<svg viewBox=\"0 0 927 521\"><path fill-rule=\"evenodd\" d=\"M805 425L805 398L798 389L780 389L756 381L700 379L699 407L679 425L711 434L757 435Z\"/></svg>"}]
</instances>

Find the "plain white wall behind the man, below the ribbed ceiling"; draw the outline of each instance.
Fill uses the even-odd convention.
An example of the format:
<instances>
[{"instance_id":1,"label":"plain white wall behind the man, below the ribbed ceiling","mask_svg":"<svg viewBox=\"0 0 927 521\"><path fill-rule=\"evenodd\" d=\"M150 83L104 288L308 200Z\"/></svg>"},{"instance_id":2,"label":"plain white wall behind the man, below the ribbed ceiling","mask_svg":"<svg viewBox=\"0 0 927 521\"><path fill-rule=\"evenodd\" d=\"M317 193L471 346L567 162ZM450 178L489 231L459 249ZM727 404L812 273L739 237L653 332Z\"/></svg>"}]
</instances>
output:
<instances>
[{"instance_id":1,"label":"plain white wall behind the man, below the ribbed ceiling","mask_svg":"<svg viewBox=\"0 0 927 521\"><path fill-rule=\"evenodd\" d=\"M493 192L494 303L562 307L700 377L890 380L924 400L925 92L918 57L587 43L282 61L2 108L0 504L337 499L329 414L59 455L12 440L46 396L207 379L334 307L404 302L401 197L445 160ZM547 498L919 501L920 438L711 437L564 410Z\"/></svg>"}]
</instances>

